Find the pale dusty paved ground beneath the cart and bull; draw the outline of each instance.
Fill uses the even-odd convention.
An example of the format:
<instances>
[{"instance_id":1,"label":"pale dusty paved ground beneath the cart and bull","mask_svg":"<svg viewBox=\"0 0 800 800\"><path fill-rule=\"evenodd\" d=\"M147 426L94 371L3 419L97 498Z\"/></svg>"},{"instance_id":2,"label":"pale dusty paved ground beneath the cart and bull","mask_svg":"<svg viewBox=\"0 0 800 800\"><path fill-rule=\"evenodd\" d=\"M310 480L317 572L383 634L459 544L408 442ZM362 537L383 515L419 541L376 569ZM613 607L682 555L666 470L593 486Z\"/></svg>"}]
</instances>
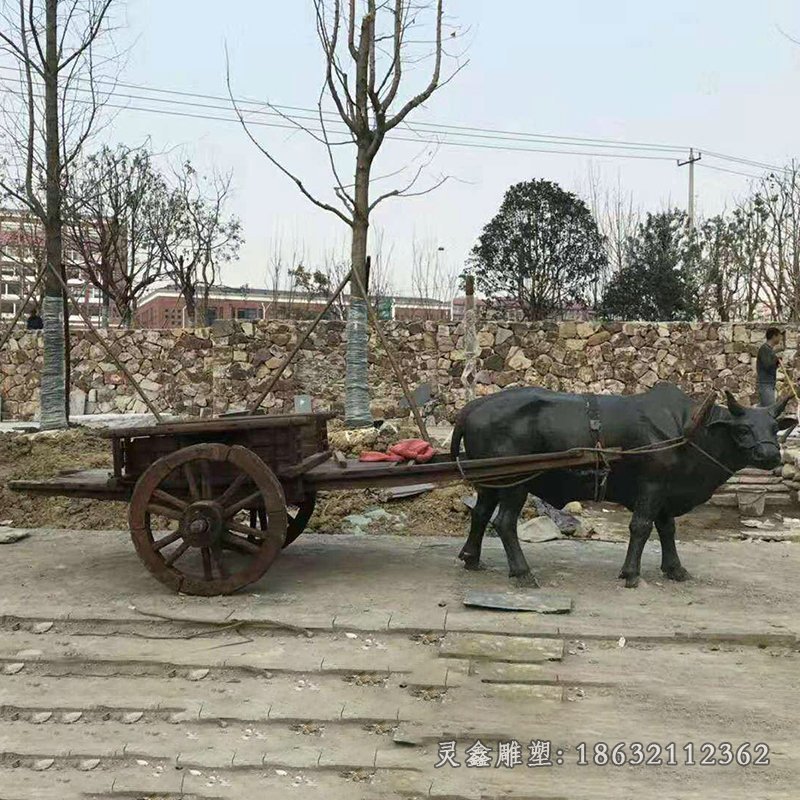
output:
<instances>
[{"instance_id":1,"label":"pale dusty paved ground beneath the cart and bull","mask_svg":"<svg viewBox=\"0 0 800 800\"><path fill-rule=\"evenodd\" d=\"M0 797L797 797L797 545L683 543L676 584L654 541L636 590L622 544L524 548L568 613L464 605L518 594L497 539L466 572L449 538L308 534L220 598L121 533L0 546Z\"/></svg>"}]
</instances>

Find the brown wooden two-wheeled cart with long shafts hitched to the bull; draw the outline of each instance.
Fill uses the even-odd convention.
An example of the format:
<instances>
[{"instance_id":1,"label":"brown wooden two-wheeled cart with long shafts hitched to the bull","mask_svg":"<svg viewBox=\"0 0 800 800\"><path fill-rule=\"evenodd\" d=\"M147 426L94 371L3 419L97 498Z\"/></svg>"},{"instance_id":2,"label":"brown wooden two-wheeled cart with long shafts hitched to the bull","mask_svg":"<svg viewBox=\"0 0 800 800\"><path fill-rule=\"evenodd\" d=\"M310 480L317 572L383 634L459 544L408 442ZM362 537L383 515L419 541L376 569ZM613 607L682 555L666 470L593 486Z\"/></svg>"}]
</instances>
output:
<instances>
[{"instance_id":1,"label":"brown wooden two-wheeled cart with long shafts hitched to the bull","mask_svg":"<svg viewBox=\"0 0 800 800\"><path fill-rule=\"evenodd\" d=\"M524 479L548 469L594 468L587 451L426 464L334 457L333 415L221 417L103 433L113 472L75 471L12 481L29 494L129 503L131 537L150 572L177 592L230 594L258 580L304 530L318 491L458 480ZM603 460L613 460L606 454Z\"/></svg>"}]
</instances>

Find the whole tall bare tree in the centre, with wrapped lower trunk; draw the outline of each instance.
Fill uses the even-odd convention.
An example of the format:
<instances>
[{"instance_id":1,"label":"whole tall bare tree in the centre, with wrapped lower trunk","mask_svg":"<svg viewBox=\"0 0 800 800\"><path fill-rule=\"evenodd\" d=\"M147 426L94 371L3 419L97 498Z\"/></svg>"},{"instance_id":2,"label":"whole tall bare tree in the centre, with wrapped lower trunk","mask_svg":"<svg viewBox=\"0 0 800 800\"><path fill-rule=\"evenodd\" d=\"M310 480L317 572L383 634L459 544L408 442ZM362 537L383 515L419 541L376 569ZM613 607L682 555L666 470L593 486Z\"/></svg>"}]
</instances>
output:
<instances>
[{"instance_id":1,"label":"whole tall bare tree in the centre, with wrapped lower trunk","mask_svg":"<svg viewBox=\"0 0 800 800\"><path fill-rule=\"evenodd\" d=\"M425 189L417 189L423 165L405 186L389 189L377 197L371 193L372 170L387 135L463 66L457 66L449 78L442 79L442 62L448 55L445 42L456 38L457 34L456 30L451 30L448 36L444 30L443 5L443 0L314 0L317 35L325 57L319 126L312 130L291 117L286 118L325 147L335 182L335 199L331 202L309 190L301 178L255 138L245 112L230 90L230 73L228 75L231 100L250 139L294 181L310 202L334 214L351 230L350 264L356 279L348 310L345 420L353 427L370 425L372 421L367 371L367 309L359 289L360 285L368 291L366 257L371 215L385 200L424 194L446 180L441 178ZM424 32L428 26L433 28L433 37ZM413 76L426 57L432 61L429 77L417 93L401 100L404 79ZM343 136L341 139L333 140L329 135L330 117L323 112L326 99L336 109L337 124L344 125L344 134L336 133L337 137ZM349 157L354 156L354 178L349 184L340 177L342 157L339 153L342 151Z\"/></svg>"}]
</instances>

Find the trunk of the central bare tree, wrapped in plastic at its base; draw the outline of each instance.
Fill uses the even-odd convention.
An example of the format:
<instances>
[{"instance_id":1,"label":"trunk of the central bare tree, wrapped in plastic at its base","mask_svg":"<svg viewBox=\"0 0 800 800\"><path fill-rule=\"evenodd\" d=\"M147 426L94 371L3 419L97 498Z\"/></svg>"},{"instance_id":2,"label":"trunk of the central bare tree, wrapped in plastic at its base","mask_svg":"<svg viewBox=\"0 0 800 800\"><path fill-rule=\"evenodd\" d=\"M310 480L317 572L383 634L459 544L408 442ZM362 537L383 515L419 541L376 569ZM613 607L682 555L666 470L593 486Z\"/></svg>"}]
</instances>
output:
<instances>
[{"instance_id":1,"label":"trunk of the central bare tree, wrapped in plastic at its base","mask_svg":"<svg viewBox=\"0 0 800 800\"><path fill-rule=\"evenodd\" d=\"M369 172L370 162L359 146L355 175L355 211L353 212L353 241L350 252L352 269L367 286L367 237L369 234ZM372 425L369 408L369 326L366 298L357 283L350 284L350 307L347 312L347 352L345 359L344 421L349 428Z\"/></svg>"}]
</instances>

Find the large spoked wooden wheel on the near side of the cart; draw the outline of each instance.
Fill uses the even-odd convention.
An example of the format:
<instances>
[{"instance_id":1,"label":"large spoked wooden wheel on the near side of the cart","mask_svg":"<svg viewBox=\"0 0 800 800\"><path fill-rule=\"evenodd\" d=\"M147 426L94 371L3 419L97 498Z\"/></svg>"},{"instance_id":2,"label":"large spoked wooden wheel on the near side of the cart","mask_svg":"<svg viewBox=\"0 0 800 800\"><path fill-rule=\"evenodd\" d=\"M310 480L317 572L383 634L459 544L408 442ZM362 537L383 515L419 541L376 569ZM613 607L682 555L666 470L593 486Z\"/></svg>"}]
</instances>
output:
<instances>
[{"instance_id":1,"label":"large spoked wooden wheel on the near side of the cart","mask_svg":"<svg viewBox=\"0 0 800 800\"><path fill-rule=\"evenodd\" d=\"M242 516L256 504L266 524L251 527ZM150 572L196 595L230 594L258 580L288 524L283 489L269 467L247 448L224 444L193 445L153 463L134 487L128 519ZM162 532L153 520L172 530Z\"/></svg>"}]
</instances>

